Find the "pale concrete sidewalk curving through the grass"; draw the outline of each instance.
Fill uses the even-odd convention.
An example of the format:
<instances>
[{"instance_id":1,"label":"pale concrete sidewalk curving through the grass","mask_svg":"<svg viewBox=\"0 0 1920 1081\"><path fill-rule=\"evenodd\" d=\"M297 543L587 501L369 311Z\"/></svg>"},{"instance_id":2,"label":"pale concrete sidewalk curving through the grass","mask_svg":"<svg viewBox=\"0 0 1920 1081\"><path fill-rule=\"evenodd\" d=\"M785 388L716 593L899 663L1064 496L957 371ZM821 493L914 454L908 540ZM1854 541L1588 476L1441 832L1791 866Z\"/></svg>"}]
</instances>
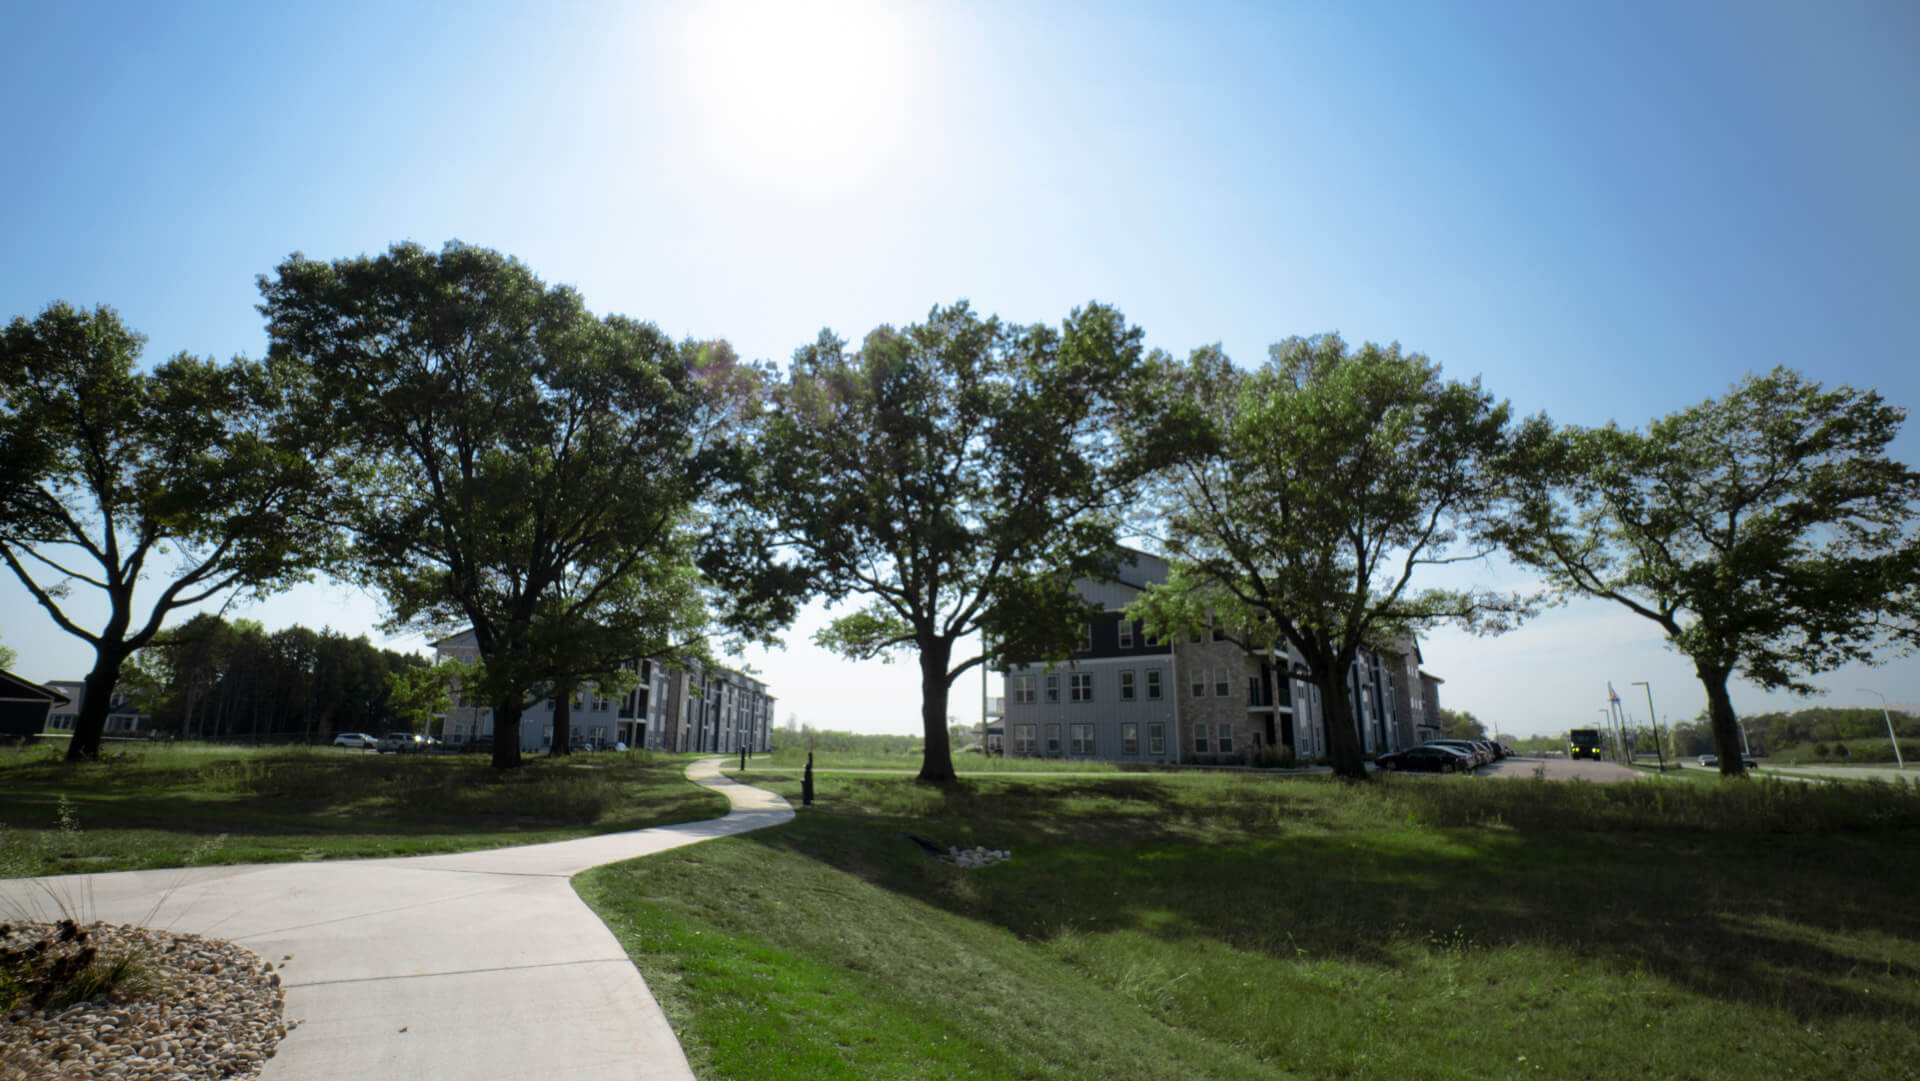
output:
<instances>
[{"instance_id":1,"label":"pale concrete sidewalk curving through the grass","mask_svg":"<svg viewBox=\"0 0 1920 1081\"><path fill-rule=\"evenodd\" d=\"M778 826L787 801L687 768L733 810L578 841L319 864L0 879L0 912L142 924L240 943L276 966L286 1035L263 1081L687 1079L612 931L568 877Z\"/></svg>"}]
</instances>

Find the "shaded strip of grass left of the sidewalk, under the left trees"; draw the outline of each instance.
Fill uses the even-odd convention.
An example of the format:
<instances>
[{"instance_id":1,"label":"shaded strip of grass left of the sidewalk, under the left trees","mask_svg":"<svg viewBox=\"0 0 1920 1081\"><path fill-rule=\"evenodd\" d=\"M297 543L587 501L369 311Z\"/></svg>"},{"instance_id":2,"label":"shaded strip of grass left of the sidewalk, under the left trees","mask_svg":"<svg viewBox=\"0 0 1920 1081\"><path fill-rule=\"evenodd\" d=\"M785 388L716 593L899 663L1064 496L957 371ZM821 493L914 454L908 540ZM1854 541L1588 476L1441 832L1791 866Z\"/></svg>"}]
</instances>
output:
<instances>
[{"instance_id":1,"label":"shaded strip of grass left of the sidewalk, under the left trees","mask_svg":"<svg viewBox=\"0 0 1920 1081\"><path fill-rule=\"evenodd\" d=\"M532 845L726 814L685 758L134 747L69 766L0 753L0 877Z\"/></svg>"}]
</instances>

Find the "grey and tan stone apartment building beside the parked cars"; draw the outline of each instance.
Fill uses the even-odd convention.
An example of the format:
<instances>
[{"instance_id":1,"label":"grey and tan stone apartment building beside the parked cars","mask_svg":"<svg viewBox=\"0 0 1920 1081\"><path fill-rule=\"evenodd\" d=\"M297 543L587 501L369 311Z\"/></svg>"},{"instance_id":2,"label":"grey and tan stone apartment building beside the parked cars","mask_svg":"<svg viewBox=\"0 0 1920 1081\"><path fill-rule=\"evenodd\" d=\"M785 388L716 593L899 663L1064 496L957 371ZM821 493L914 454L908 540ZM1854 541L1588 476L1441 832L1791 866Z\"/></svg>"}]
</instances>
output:
<instances>
[{"instance_id":1,"label":"grey and tan stone apartment building beside the parked cars","mask_svg":"<svg viewBox=\"0 0 1920 1081\"><path fill-rule=\"evenodd\" d=\"M1006 753L1167 764L1248 764L1283 747L1298 758L1327 755L1321 693L1298 653L1248 651L1217 630L1150 641L1125 618L1165 578L1165 561L1127 549L1114 580L1075 584L1100 614L1066 662L1002 674ZM1365 651L1346 676L1367 753L1411 745L1404 651Z\"/></svg>"}]
</instances>

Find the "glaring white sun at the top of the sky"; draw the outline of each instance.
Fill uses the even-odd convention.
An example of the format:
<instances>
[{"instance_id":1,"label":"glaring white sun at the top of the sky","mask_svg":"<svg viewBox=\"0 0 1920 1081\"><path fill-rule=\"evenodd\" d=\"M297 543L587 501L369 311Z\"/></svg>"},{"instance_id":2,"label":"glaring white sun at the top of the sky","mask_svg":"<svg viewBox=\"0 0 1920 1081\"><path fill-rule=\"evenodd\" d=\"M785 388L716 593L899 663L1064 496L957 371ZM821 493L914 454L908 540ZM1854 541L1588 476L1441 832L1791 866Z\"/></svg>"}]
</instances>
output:
<instances>
[{"instance_id":1,"label":"glaring white sun at the top of the sky","mask_svg":"<svg viewBox=\"0 0 1920 1081\"><path fill-rule=\"evenodd\" d=\"M708 163L829 186L908 132L925 75L910 8L718 2L672 15L662 90Z\"/></svg>"}]
</instances>

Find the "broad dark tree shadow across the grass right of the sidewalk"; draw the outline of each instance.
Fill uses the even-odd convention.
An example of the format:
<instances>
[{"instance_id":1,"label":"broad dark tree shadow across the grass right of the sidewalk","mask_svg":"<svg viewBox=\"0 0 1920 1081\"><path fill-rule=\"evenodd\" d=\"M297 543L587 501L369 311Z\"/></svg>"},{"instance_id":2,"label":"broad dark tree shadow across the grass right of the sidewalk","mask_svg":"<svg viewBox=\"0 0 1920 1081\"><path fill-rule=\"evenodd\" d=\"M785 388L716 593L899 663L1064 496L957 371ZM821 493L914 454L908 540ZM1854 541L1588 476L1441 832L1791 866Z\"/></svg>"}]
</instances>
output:
<instances>
[{"instance_id":1,"label":"broad dark tree shadow across the grass right of the sidewalk","mask_svg":"<svg viewBox=\"0 0 1920 1081\"><path fill-rule=\"evenodd\" d=\"M912 808L849 793L749 837L1025 939L1127 929L1388 968L1409 941L1540 945L1803 1020L1920 1025L1920 831L1899 799L1501 785L1523 787L1275 785L1196 805L1175 781L1037 780L924 789ZM1014 860L960 870L904 833Z\"/></svg>"}]
</instances>

